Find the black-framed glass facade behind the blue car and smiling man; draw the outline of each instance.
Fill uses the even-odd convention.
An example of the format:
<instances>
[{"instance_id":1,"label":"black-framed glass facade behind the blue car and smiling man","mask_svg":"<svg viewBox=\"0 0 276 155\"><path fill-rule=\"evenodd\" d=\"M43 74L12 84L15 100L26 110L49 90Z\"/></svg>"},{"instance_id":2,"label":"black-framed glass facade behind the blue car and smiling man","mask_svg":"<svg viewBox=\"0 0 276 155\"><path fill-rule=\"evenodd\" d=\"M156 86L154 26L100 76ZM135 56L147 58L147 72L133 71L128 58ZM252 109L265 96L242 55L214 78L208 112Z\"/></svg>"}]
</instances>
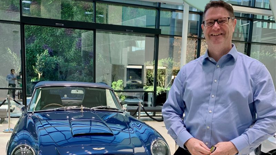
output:
<instances>
[{"instance_id":1,"label":"black-framed glass facade behind the blue car and smiling man","mask_svg":"<svg viewBox=\"0 0 276 155\"><path fill-rule=\"evenodd\" d=\"M227 3L270 9L269 0ZM239 52L264 63L275 83L274 17L241 12L235 16L232 43ZM189 20L184 21L188 22L185 63L206 52L201 20L202 12L189 7ZM141 101L144 106L162 106L180 70L182 27L183 5L135 0L1 0L0 100L8 93L22 100L22 93L30 96L39 81L81 81L108 84L128 105ZM7 81L11 69L15 88Z\"/></svg>"}]
</instances>

